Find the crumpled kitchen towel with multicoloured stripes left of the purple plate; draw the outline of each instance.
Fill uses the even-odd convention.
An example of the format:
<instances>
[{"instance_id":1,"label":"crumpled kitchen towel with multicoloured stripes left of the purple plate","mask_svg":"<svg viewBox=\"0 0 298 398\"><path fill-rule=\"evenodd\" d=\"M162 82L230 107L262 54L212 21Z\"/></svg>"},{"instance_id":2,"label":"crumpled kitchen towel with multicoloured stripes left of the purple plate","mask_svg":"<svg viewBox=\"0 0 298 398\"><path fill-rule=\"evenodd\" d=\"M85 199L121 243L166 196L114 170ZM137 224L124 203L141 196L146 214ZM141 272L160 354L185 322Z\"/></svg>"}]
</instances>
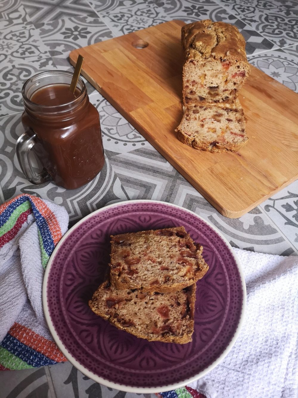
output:
<instances>
[{"instance_id":1,"label":"crumpled kitchen towel with multicoloured stripes left of the purple plate","mask_svg":"<svg viewBox=\"0 0 298 398\"><path fill-rule=\"evenodd\" d=\"M67 227L64 207L33 195L0 205L0 370L66 361L46 326L41 292Z\"/></svg>"}]
</instances>

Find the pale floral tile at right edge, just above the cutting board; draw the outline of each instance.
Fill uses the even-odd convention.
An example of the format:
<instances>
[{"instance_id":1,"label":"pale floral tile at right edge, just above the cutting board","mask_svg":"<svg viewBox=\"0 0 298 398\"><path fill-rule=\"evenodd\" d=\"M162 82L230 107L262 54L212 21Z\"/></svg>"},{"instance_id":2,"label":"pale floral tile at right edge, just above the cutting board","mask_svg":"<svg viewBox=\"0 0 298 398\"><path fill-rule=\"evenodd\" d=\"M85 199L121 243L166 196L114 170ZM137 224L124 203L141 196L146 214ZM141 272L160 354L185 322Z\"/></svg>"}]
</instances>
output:
<instances>
[{"instance_id":1,"label":"pale floral tile at right edge, just above the cutting board","mask_svg":"<svg viewBox=\"0 0 298 398\"><path fill-rule=\"evenodd\" d=\"M298 92L298 56L279 49L252 55L248 60L286 87Z\"/></svg>"}]
</instances>

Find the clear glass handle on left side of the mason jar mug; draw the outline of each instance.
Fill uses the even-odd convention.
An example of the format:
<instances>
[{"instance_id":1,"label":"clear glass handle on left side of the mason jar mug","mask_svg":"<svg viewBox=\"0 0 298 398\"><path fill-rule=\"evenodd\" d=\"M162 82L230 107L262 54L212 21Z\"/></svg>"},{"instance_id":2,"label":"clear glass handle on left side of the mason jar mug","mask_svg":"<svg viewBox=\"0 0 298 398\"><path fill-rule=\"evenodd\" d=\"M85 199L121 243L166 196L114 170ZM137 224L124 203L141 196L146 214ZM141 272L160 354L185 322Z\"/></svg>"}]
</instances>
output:
<instances>
[{"instance_id":1,"label":"clear glass handle on left side of the mason jar mug","mask_svg":"<svg viewBox=\"0 0 298 398\"><path fill-rule=\"evenodd\" d=\"M36 141L36 134L32 130L23 133L15 145L17 160L21 166L24 176L33 184L39 185L50 181L52 178L48 172L43 169L36 173L29 159L29 152Z\"/></svg>"}]
</instances>

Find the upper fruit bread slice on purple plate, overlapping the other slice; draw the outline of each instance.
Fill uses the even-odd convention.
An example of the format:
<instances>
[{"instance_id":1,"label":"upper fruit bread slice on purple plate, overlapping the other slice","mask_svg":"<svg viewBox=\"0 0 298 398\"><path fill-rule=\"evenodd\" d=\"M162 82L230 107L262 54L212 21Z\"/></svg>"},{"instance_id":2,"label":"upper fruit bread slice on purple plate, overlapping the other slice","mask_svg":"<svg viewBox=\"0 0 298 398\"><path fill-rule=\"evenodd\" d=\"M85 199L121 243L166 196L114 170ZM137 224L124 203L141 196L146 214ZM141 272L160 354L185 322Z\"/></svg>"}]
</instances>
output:
<instances>
[{"instance_id":1,"label":"upper fruit bread slice on purple plate, overlapping the other slice","mask_svg":"<svg viewBox=\"0 0 298 398\"><path fill-rule=\"evenodd\" d=\"M117 289L178 291L207 272L202 251L183 226L111 236L110 281Z\"/></svg>"}]
</instances>

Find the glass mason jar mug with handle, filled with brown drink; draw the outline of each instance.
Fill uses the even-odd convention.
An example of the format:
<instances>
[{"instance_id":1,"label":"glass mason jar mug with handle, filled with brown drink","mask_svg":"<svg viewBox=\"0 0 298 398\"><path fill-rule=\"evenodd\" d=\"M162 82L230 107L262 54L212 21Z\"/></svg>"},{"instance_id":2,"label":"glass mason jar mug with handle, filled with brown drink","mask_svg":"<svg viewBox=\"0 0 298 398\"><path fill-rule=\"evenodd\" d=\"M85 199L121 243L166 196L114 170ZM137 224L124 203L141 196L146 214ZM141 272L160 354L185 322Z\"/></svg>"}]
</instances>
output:
<instances>
[{"instance_id":1,"label":"glass mason jar mug with handle, filled with brown drink","mask_svg":"<svg viewBox=\"0 0 298 398\"><path fill-rule=\"evenodd\" d=\"M91 181L104 166L99 113L89 102L85 84L69 90L72 73L39 73L25 82L22 96L26 132L16 144L17 158L25 177L33 184L53 181L76 189ZM42 170L35 172L30 151Z\"/></svg>"}]
</instances>

